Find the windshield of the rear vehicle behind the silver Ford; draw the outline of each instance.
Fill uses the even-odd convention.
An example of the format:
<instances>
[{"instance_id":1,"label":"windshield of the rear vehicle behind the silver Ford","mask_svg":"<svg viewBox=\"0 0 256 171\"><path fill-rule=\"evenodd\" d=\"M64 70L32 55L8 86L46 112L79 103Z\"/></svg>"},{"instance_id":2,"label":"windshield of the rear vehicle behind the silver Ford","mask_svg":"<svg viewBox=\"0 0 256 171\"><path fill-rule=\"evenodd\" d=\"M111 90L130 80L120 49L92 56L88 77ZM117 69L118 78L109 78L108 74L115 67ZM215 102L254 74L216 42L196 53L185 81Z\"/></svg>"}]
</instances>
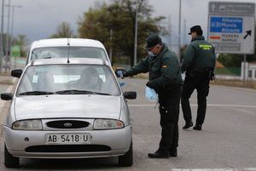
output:
<instances>
[{"instance_id":1,"label":"windshield of the rear vehicle behind the silver Ford","mask_svg":"<svg viewBox=\"0 0 256 171\"><path fill-rule=\"evenodd\" d=\"M32 50L31 60L47 59L47 58L67 58L78 57L78 58L99 58L107 60L107 54L102 48L94 47L46 47L46 48L35 48Z\"/></svg>"}]
</instances>

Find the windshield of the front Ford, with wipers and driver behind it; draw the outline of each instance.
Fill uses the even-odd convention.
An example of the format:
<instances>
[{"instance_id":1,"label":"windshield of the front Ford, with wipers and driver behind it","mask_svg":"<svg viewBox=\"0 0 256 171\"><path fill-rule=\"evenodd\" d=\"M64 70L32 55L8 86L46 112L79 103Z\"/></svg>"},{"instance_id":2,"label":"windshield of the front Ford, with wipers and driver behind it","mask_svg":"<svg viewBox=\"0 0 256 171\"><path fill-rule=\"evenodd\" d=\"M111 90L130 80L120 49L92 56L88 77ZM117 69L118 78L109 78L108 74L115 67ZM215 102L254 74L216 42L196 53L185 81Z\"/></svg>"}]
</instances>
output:
<instances>
[{"instance_id":1,"label":"windshield of the front Ford, with wipers and driver behind it","mask_svg":"<svg viewBox=\"0 0 256 171\"><path fill-rule=\"evenodd\" d=\"M119 95L120 91L109 66L28 66L20 80L16 95L48 94Z\"/></svg>"}]
</instances>

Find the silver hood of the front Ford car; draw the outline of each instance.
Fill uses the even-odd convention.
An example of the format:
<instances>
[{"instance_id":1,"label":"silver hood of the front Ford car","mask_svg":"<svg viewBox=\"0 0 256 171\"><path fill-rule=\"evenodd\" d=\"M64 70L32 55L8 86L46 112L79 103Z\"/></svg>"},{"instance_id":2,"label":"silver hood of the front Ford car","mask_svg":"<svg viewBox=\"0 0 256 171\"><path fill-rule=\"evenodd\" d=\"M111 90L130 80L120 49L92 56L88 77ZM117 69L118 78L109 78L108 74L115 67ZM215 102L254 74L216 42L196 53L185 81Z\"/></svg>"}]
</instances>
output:
<instances>
[{"instance_id":1,"label":"silver hood of the front Ford car","mask_svg":"<svg viewBox=\"0 0 256 171\"><path fill-rule=\"evenodd\" d=\"M108 95L37 95L15 99L17 120L32 118L113 118L119 119L120 96Z\"/></svg>"}]
</instances>

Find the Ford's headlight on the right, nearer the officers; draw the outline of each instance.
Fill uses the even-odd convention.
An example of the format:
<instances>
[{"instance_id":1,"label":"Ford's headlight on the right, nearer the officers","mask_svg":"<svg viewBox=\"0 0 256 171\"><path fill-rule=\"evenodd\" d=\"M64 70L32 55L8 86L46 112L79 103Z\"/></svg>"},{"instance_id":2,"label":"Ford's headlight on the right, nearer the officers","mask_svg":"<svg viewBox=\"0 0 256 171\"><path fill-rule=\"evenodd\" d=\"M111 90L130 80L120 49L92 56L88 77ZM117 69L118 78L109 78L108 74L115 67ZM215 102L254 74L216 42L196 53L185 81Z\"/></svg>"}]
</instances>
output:
<instances>
[{"instance_id":1,"label":"Ford's headlight on the right, nearer the officers","mask_svg":"<svg viewBox=\"0 0 256 171\"><path fill-rule=\"evenodd\" d=\"M115 119L96 119L93 124L94 129L112 129L124 127L125 124L122 121Z\"/></svg>"}]
</instances>

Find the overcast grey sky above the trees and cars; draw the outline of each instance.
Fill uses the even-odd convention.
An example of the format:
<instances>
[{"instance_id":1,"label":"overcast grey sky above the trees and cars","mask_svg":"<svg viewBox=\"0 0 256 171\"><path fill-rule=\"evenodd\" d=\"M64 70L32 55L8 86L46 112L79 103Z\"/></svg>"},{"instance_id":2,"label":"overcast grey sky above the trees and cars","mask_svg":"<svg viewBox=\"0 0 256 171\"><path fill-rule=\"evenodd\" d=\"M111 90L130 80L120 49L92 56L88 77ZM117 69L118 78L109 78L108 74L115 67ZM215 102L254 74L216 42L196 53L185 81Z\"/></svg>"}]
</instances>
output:
<instances>
[{"instance_id":1,"label":"overcast grey sky above the trees and cars","mask_svg":"<svg viewBox=\"0 0 256 171\"><path fill-rule=\"evenodd\" d=\"M103 0L97 1L101 2ZM108 1L106 0L105 2ZM154 8L154 16L163 15L166 18L170 16L172 42L176 42L179 0L148 1ZM203 31L207 32L207 12L210 1L182 0L182 43L189 42L190 37L185 33L189 31L191 26L201 25ZM234 2L234 0L226 1ZM255 1L236 0L236 2L243 3L255 3ZM96 0L11 0L11 4L22 6L22 8L15 8L14 35L25 34L30 42L47 38L55 33L56 27L62 21L70 23L76 33L79 16L82 16L90 7L93 7L95 2ZM218 0L218 2L224 1ZM9 3L9 0L5 0L5 3ZM7 12L7 8L5 8L5 12ZM186 21L184 22L184 20ZM167 21L163 25L167 24ZM7 17L5 17L4 30L5 32L7 30Z\"/></svg>"}]
</instances>

